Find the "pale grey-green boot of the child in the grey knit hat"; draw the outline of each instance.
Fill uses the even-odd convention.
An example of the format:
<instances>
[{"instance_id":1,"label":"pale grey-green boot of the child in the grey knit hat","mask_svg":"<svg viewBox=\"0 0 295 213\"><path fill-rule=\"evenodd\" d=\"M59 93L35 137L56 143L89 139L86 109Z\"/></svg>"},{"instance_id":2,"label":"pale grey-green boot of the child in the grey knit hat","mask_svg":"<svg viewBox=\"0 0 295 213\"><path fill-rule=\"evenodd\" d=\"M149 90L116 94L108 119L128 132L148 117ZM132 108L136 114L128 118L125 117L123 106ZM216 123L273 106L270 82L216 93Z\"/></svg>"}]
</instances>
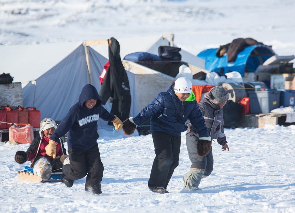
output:
<instances>
[{"instance_id":1,"label":"pale grey-green boot of the child in the grey knit hat","mask_svg":"<svg viewBox=\"0 0 295 213\"><path fill-rule=\"evenodd\" d=\"M189 172L187 172L183 176L184 186L183 186L182 191L201 190L201 189L199 189L199 184L201 182L204 172L205 172L204 170L190 169Z\"/></svg>"}]
</instances>

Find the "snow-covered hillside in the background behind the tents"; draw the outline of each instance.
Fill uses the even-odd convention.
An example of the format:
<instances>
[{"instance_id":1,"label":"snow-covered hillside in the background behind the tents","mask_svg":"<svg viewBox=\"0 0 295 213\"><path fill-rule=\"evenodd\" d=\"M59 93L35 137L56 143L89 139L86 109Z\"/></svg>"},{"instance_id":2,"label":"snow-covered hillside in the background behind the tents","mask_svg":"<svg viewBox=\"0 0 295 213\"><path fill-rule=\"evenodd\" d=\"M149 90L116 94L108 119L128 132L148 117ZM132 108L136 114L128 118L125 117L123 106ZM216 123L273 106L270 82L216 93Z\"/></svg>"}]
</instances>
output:
<instances>
[{"instance_id":1,"label":"snow-covered hillside in the background behind the tents","mask_svg":"<svg viewBox=\"0 0 295 213\"><path fill-rule=\"evenodd\" d=\"M0 43L174 33L175 43L193 54L252 37L278 55L294 55L294 8L293 0L2 0Z\"/></svg>"}]
</instances>

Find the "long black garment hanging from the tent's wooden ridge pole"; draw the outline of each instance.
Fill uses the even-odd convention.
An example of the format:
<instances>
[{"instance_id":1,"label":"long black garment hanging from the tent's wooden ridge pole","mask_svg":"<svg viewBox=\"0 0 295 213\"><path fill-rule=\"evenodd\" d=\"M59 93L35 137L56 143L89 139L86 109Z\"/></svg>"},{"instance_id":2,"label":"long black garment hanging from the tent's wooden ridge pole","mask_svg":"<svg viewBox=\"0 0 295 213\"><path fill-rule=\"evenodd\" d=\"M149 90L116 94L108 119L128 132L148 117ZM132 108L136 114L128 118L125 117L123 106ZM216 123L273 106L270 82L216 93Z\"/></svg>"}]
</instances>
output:
<instances>
[{"instance_id":1,"label":"long black garment hanging from the tent's wooden ridge pole","mask_svg":"<svg viewBox=\"0 0 295 213\"><path fill-rule=\"evenodd\" d=\"M112 98L111 113L124 121L129 118L131 95L127 73L120 57L120 45L115 38L110 39L109 63L110 67L101 85L99 96L102 104L106 104L109 97ZM113 125L109 122L110 125Z\"/></svg>"}]
</instances>

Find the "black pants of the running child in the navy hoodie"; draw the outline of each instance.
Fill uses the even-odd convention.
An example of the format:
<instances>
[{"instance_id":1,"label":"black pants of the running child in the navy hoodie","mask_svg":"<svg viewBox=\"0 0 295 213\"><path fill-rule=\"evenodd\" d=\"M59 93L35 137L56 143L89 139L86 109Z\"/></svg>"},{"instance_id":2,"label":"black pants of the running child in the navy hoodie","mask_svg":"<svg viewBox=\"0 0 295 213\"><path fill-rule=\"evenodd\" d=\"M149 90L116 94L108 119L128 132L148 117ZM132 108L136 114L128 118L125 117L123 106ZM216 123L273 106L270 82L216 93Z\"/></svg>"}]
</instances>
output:
<instances>
[{"instance_id":1,"label":"black pants of the running child in the navy hoodie","mask_svg":"<svg viewBox=\"0 0 295 213\"><path fill-rule=\"evenodd\" d=\"M96 193L101 188L100 182L104 172L98 145L94 145L94 147L87 151L69 148L68 153L71 163L63 166L63 174L71 180L78 180L87 175L85 190Z\"/></svg>"}]
</instances>

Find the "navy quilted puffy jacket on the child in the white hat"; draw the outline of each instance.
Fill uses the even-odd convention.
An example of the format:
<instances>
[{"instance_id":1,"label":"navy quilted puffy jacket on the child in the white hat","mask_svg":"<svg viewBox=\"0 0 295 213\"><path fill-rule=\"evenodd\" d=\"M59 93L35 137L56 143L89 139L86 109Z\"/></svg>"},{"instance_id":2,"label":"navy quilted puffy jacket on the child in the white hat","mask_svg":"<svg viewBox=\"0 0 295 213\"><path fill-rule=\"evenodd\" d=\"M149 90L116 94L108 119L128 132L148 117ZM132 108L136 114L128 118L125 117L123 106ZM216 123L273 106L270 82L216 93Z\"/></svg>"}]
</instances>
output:
<instances>
[{"instance_id":1,"label":"navy quilted puffy jacket on the child in the white hat","mask_svg":"<svg viewBox=\"0 0 295 213\"><path fill-rule=\"evenodd\" d=\"M209 136L197 101L180 101L173 91L173 86L166 92L161 92L133 121L140 125L150 118L151 131L180 136L181 132L186 131L185 122L189 119L198 129L200 137Z\"/></svg>"}]
</instances>

